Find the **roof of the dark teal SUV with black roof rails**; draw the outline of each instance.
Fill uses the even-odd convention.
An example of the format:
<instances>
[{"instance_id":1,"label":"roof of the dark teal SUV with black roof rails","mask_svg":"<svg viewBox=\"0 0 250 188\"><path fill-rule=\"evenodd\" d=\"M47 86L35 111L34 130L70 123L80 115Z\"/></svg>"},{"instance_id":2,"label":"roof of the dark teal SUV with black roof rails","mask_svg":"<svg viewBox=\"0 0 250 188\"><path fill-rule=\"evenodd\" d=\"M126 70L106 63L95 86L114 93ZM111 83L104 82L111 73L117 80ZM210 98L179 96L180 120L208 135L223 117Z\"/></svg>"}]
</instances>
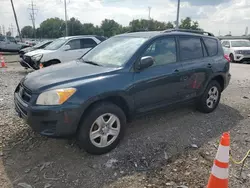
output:
<instances>
[{"instance_id":1,"label":"roof of the dark teal SUV with black roof rails","mask_svg":"<svg viewBox=\"0 0 250 188\"><path fill-rule=\"evenodd\" d=\"M117 36L130 36L130 37L143 37L143 38L152 38L158 35L196 35L196 36L210 36L214 37L213 34L208 33L208 35L204 35L203 31L193 31L193 30L164 30L164 31L142 31L142 32L131 32L124 33Z\"/></svg>"}]
</instances>

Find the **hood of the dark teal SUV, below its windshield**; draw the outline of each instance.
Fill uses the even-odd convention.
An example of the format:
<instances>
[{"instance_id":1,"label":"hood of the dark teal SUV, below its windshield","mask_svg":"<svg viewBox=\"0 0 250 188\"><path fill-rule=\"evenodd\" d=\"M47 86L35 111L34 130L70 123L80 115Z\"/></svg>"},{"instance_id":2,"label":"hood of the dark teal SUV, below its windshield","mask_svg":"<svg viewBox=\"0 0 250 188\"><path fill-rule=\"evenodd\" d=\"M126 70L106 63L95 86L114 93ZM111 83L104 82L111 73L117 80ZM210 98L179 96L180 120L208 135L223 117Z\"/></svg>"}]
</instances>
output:
<instances>
[{"instance_id":1,"label":"hood of the dark teal SUV, below its windshield","mask_svg":"<svg viewBox=\"0 0 250 188\"><path fill-rule=\"evenodd\" d=\"M33 93L39 93L62 84L83 81L89 78L100 79L117 68L101 67L79 60L46 67L28 74L22 84Z\"/></svg>"}]
</instances>

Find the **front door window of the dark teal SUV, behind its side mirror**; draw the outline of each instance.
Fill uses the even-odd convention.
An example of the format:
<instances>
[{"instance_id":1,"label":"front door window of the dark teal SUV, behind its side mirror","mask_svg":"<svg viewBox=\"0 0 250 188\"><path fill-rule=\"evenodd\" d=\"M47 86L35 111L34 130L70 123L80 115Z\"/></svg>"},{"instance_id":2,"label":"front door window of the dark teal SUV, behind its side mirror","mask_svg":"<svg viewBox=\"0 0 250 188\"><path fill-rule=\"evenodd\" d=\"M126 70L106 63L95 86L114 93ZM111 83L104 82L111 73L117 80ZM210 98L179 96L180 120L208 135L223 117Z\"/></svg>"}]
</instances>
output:
<instances>
[{"instance_id":1,"label":"front door window of the dark teal SUV, behind its side mirror","mask_svg":"<svg viewBox=\"0 0 250 188\"><path fill-rule=\"evenodd\" d=\"M143 53L144 56L151 56L154 65L165 65L176 62L176 42L175 38L156 39Z\"/></svg>"}]
</instances>

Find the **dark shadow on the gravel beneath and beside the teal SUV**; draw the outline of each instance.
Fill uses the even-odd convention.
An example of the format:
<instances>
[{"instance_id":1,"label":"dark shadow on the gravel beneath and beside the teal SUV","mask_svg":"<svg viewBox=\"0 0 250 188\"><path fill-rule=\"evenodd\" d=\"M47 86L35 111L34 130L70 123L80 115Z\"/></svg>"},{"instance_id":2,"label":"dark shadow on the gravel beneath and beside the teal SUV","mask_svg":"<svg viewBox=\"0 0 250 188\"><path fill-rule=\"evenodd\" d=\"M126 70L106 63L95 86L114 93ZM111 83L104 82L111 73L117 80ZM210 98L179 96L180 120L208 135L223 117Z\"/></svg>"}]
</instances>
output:
<instances>
[{"instance_id":1,"label":"dark shadow on the gravel beneath and beside the teal SUV","mask_svg":"<svg viewBox=\"0 0 250 188\"><path fill-rule=\"evenodd\" d=\"M167 158L192 144L201 146L242 119L239 111L224 104L210 114L193 106L157 112L130 123L121 144L101 156L87 154L74 141L45 138L27 127L3 148L3 165L14 187L102 187L167 163Z\"/></svg>"}]
</instances>

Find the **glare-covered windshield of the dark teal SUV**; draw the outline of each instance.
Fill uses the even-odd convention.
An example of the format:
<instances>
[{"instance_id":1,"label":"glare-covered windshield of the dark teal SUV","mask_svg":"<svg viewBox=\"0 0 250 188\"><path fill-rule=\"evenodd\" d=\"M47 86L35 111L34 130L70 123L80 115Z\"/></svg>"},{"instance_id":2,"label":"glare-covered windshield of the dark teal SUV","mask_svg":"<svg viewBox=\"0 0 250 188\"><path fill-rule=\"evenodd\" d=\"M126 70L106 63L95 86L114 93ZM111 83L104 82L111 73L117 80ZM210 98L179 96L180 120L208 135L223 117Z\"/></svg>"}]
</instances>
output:
<instances>
[{"instance_id":1,"label":"glare-covered windshield of the dark teal SUV","mask_svg":"<svg viewBox=\"0 0 250 188\"><path fill-rule=\"evenodd\" d=\"M88 52L83 61L94 62L100 66L120 67L147 40L136 37L112 37Z\"/></svg>"}]
</instances>

